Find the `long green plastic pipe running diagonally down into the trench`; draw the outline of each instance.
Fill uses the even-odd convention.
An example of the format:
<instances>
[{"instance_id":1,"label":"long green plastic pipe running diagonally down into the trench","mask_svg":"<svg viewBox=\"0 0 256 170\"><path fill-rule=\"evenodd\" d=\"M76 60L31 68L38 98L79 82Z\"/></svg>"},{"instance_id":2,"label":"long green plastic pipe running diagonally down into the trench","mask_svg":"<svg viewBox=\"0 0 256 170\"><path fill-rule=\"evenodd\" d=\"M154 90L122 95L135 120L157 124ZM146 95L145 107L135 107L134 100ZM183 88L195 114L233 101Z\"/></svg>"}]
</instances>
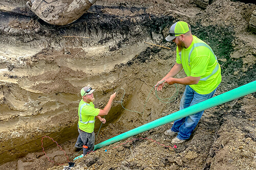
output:
<instances>
[{"instance_id":1,"label":"long green plastic pipe running diagonally down into the trench","mask_svg":"<svg viewBox=\"0 0 256 170\"><path fill-rule=\"evenodd\" d=\"M188 115L195 114L197 112L200 112L205 109L209 109L211 107L221 105L223 103L232 101L234 99L240 98L244 95L253 93L256 91L256 81L253 81L251 83L248 83L246 85L240 86L238 88L235 88L233 90L227 91L223 94L217 95L214 98L208 99L206 101L200 102L196 105L189 106L185 109L179 110L175 113L169 114L167 116L161 117L159 119L156 119L150 123L147 123L145 125L142 125L138 128L132 129L130 131L127 131L125 133L122 133L120 135L117 135L111 139L105 140L101 143L98 143L95 145L94 150L100 149L106 145L110 145L112 143L115 143L117 141L120 141L122 139L137 135L139 133L145 132L147 130L154 129L156 127L168 124L170 122L173 122L174 120L178 120L180 118L186 117Z\"/></svg>"}]
</instances>

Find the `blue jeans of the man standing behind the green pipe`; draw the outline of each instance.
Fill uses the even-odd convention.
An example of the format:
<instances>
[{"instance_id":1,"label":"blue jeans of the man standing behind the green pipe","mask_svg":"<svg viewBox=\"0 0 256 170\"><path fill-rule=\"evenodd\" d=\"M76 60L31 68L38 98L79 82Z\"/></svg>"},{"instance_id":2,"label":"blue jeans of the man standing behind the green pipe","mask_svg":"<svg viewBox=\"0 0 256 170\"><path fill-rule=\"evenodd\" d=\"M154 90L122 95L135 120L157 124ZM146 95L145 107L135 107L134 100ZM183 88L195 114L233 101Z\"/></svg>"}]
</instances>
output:
<instances>
[{"instance_id":1,"label":"blue jeans of the man standing behind the green pipe","mask_svg":"<svg viewBox=\"0 0 256 170\"><path fill-rule=\"evenodd\" d=\"M187 85L180 101L180 110L212 98L217 88L209 94L199 94ZM191 133L194 131L200 118L202 117L203 112L204 110L175 120L171 130L173 132L178 132L178 139L185 140L190 137Z\"/></svg>"}]
</instances>

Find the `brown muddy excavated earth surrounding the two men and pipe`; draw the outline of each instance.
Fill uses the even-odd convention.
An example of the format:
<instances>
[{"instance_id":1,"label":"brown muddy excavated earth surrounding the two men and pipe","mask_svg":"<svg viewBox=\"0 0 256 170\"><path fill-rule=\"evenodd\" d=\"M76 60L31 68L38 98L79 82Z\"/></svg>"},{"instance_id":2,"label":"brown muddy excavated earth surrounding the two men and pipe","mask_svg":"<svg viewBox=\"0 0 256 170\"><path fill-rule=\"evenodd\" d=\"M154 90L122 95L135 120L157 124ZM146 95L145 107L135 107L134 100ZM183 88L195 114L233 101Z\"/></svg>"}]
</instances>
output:
<instances>
[{"instance_id":1,"label":"brown muddy excavated earth surrounding the two men and pipe","mask_svg":"<svg viewBox=\"0 0 256 170\"><path fill-rule=\"evenodd\" d=\"M175 63L176 46L164 38L178 20L218 56L223 80L216 95L256 80L256 35L248 27L255 4L217 0L201 9L187 0L102 0L60 27L39 19L26 2L0 2L0 169L63 169L58 164L80 155L73 146L85 85L96 88L99 108L117 91L99 133L96 122L96 144L178 111L184 86L158 93L177 94L169 104L151 92ZM96 150L72 169L256 169L255 98L205 110L177 148L163 135L170 123Z\"/></svg>"}]
</instances>

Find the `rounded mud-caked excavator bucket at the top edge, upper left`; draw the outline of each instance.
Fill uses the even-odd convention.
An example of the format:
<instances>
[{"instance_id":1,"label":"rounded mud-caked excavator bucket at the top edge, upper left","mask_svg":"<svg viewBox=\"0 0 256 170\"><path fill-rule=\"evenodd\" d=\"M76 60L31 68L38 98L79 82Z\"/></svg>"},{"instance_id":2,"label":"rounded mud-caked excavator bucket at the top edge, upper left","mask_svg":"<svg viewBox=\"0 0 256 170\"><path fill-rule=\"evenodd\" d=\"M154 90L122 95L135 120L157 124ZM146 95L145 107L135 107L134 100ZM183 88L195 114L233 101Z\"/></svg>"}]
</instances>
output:
<instances>
[{"instance_id":1,"label":"rounded mud-caked excavator bucket at the top edge, upper left","mask_svg":"<svg viewBox=\"0 0 256 170\"><path fill-rule=\"evenodd\" d=\"M27 6L39 18L52 25L74 22L97 0L30 0Z\"/></svg>"}]
</instances>

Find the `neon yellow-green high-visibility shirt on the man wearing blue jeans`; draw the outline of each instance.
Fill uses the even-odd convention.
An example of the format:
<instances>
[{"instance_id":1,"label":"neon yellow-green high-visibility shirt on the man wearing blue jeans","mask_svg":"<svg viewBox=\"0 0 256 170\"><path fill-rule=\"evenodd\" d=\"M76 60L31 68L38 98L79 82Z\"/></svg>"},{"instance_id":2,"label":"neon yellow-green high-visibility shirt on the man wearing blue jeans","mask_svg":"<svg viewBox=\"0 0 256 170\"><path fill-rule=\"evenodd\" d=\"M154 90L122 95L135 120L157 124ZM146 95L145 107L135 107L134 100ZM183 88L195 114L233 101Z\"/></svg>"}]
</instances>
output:
<instances>
[{"instance_id":1,"label":"neon yellow-green high-visibility shirt on the man wearing blue jeans","mask_svg":"<svg viewBox=\"0 0 256 170\"><path fill-rule=\"evenodd\" d=\"M193 41L188 48L183 48L181 53L179 53L177 47L176 62L178 64L182 64L188 77L200 77L200 81L197 84L189 86L199 94L208 94L214 91L221 82L220 64L218 63L214 53L209 49L210 47L208 48L203 45L193 47L195 43L206 44L204 41L193 35ZM216 72L214 71L215 69L217 70ZM212 73L214 74L211 75ZM207 80L201 80L203 78Z\"/></svg>"}]
</instances>

